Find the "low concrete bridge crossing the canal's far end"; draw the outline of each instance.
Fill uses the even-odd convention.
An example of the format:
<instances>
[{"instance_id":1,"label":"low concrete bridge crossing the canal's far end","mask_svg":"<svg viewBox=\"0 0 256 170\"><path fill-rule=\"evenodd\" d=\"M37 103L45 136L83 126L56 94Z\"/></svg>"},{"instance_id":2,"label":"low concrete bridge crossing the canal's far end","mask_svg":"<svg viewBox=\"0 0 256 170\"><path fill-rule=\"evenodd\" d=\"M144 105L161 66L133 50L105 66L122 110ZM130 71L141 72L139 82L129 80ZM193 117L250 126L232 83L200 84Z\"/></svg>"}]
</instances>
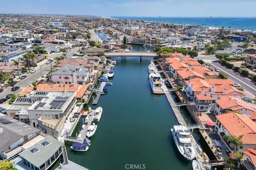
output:
<instances>
[{"instance_id":1,"label":"low concrete bridge crossing the canal's far end","mask_svg":"<svg viewBox=\"0 0 256 170\"><path fill-rule=\"evenodd\" d=\"M106 57L156 57L156 53L148 52L109 52Z\"/></svg>"}]
</instances>

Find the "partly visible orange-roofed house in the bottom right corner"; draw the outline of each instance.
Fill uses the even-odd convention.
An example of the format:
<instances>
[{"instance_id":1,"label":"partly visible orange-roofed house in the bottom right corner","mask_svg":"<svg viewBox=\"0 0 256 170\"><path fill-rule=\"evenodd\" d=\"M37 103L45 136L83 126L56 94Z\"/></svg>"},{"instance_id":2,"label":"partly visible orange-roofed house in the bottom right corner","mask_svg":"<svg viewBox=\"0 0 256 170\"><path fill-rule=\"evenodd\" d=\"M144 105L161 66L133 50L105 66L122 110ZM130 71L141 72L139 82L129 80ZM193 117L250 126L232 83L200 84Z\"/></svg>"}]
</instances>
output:
<instances>
[{"instance_id":1,"label":"partly visible orange-roofed house in the bottom right corner","mask_svg":"<svg viewBox=\"0 0 256 170\"><path fill-rule=\"evenodd\" d=\"M243 152L244 166L248 170L256 169L256 149L246 148L246 151Z\"/></svg>"}]
</instances>

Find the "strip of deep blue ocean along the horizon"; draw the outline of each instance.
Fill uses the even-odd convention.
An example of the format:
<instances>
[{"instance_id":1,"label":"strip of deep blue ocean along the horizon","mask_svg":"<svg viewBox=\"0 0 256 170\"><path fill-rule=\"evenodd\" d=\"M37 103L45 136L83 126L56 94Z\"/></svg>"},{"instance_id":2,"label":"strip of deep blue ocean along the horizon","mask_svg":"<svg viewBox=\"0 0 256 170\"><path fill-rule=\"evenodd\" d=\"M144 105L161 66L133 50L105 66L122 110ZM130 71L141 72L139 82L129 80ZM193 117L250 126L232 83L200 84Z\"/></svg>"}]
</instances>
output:
<instances>
[{"instance_id":1,"label":"strip of deep blue ocean along the horizon","mask_svg":"<svg viewBox=\"0 0 256 170\"><path fill-rule=\"evenodd\" d=\"M185 17L131 17L131 16L111 16L114 19L131 19L142 21L155 21L175 24L205 25L210 27L225 27L244 30L256 30L256 17L254 18L185 18Z\"/></svg>"}]
</instances>

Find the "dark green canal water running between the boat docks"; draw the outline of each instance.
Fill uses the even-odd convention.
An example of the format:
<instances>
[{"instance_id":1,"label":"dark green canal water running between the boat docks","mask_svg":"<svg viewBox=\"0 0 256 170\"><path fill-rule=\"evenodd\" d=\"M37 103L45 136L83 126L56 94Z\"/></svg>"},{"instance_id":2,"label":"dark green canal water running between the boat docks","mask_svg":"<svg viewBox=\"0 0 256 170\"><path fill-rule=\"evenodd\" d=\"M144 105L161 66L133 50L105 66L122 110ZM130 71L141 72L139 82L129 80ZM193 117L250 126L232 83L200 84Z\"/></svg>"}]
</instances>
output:
<instances>
[{"instance_id":1,"label":"dark green canal water running between the boat docks","mask_svg":"<svg viewBox=\"0 0 256 170\"><path fill-rule=\"evenodd\" d=\"M132 46L146 52L149 47ZM130 164L146 169L191 169L174 145L170 129L177 120L165 95L154 95L148 79L152 58L115 58L115 75L98 105L103 113L87 152L76 152L67 143L68 158L90 170L126 169ZM193 124L185 108L182 116ZM80 120L82 122L82 120ZM82 126L78 124L77 129ZM194 134L200 140L198 132ZM57 163L59 164L59 163ZM127 165L129 164L129 165ZM126 166L126 167L125 167Z\"/></svg>"}]
</instances>

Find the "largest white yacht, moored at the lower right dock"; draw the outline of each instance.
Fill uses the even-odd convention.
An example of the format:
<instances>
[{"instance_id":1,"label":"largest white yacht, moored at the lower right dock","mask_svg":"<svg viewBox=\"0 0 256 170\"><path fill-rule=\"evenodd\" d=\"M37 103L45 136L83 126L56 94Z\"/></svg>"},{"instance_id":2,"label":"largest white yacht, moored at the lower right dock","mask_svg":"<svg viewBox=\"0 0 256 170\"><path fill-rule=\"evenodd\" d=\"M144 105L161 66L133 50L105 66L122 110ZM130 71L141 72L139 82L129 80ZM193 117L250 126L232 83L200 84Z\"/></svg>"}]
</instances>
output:
<instances>
[{"instance_id":1,"label":"largest white yacht, moored at the lower right dock","mask_svg":"<svg viewBox=\"0 0 256 170\"><path fill-rule=\"evenodd\" d=\"M180 154L187 160L192 160L196 157L195 149L192 146L190 132L186 126L175 125L171 129L172 136Z\"/></svg>"}]
</instances>

